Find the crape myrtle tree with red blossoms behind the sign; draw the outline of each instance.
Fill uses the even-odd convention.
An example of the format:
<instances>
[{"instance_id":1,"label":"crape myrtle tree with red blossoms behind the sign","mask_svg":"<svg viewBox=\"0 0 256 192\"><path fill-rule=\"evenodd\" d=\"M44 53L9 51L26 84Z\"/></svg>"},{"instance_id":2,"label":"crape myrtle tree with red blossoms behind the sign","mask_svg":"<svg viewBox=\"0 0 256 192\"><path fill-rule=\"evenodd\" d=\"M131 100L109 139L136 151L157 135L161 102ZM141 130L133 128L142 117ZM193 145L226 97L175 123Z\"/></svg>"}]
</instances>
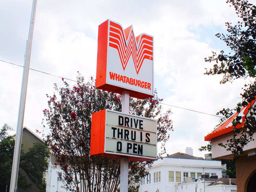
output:
<instances>
[{"instance_id":1,"label":"crape myrtle tree with red blossoms behind the sign","mask_svg":"<svg viewBox=\"0 0 256 192\"><path fill-rule=\"evenodd\" d=\"M116 191L120 175L117 159L90 157L91 114L103 109L121 111L121 96L95 88L93 77L84 83L78 74L77 84L63 87L54 84L55 91L49 98L48 109L43 110L45 122L50 129L45 142L64 171L64 188L69 191ZM173 130L170 110L163 112L162 99L154 92L153 98L144 100L130 98L129 113L157 118L157 141L161 143L159 157L165 153L169 131ZM45 125L44 125L45 126ZM133 185L147 174L145 169L153 161L129 162L129 184Z\"/></svg>"}]
</instances>

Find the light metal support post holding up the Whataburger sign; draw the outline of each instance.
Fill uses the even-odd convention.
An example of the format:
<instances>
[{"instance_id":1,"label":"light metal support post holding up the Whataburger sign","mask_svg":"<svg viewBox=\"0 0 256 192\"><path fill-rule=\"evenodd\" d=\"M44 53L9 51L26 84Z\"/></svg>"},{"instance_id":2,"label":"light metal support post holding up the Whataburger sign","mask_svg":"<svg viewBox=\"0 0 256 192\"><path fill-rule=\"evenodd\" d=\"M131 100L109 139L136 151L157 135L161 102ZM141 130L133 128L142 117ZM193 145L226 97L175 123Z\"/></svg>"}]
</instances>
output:
<instances>
[{"instance_id":1,"label":"light metal support post holding up the Whataburger sign","mask_svg":"<svg viewBox=\"0 0 256 192\"><path fill-rule=\"evenodd\" d=\"M122 93L122 112L129 113L129 92ZM120 192L128 192L128 157L120 159Z\"/></svg>"}]
</instances>

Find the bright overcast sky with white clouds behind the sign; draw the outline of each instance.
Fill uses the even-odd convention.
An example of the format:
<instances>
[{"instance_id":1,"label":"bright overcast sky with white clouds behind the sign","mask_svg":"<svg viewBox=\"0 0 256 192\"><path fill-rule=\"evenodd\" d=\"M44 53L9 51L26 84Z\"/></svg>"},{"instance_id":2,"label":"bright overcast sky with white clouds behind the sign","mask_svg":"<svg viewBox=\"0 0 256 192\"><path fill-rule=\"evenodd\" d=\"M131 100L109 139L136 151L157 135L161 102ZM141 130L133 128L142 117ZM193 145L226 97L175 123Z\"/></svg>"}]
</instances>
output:
<instances>
[{"instance_id":1,"label":"bright overcast sky with white clouds behind the sign","mask_svg":"<svg viewBox=\"0 0 256 192\"><path fill-rule=\"evenodd\" d=\"M32 0L1 1L0 60L24 64L31 7ZM211 50L227 50L215 34L226 31L226 21L238 19L223 0L39 0L30 68L74 80L77 71L86 80L95 77L98 25L107 19L124 28L133 25L136 36L154 36L154 87L163 103L215 114L240 101L243 80L221 85L221 76L203 75L204 68L210 67L204 58L211 56ZM7 123L16 129L23 68L2 61L0 67L0 126ZM53 94L55 82L62 86L61 78L30 70L24 126L44 130L45 94ZM174 131L167 153L185 153L186 147L192 147L195 156L204 157L198 148L208 143L204 136L219 117L171 109Z\"/></svg>"}]
</instances>

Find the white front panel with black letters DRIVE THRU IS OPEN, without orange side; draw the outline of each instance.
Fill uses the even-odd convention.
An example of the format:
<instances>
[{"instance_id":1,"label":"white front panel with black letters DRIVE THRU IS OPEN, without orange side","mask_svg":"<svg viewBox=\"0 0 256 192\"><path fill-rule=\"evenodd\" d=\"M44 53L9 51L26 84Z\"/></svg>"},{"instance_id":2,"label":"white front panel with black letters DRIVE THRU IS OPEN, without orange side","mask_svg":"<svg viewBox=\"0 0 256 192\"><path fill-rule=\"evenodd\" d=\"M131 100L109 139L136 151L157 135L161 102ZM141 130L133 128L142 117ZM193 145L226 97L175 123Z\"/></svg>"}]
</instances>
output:
<instances>
[{"instance_id":1,"label":"white front panel with black letters DRIVE THRU IS OPEN, without orange side","mask_svg":"<svg viewBox=\"0 0 256 192\"><path fill-rule=\"evenodd\" d=\"M157 158L156 120L106 110L105 153Z\"/></svg>"}]
</instances>

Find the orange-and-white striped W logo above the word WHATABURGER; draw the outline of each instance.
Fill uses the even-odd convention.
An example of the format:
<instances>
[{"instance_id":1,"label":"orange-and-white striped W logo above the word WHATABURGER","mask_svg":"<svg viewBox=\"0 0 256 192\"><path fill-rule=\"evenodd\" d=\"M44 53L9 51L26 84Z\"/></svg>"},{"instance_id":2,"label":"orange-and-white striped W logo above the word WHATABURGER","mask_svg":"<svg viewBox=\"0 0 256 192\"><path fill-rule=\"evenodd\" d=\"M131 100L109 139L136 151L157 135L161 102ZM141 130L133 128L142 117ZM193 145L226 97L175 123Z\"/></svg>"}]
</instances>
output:
<instances>
[{"instance_id":1,"label":"orange-and-white striped W logo above the word WHATABURGER","mask_svg":"<svg viewBox=\"0 0 256 192\"><path fill-rule=\"evenodd\" d=\"M153 37L140 34L135 38L132 26L123 30L120 25L110 21L109 46L117 49L124 70L132 56L137 75L144 59L153 60Z\"/></svg>"}]
</instances>

